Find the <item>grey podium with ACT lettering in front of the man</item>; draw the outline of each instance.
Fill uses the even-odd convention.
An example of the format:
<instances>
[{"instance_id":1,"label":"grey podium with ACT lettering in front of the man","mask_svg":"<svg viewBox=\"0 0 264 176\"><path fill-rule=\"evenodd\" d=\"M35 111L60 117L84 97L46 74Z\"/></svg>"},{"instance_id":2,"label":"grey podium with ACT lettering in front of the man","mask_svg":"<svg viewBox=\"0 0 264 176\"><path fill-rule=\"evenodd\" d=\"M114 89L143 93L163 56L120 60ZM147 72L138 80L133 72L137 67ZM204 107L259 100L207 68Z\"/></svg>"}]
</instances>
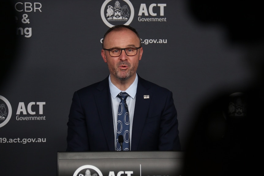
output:
<instances>
[{"instance_id":1,"label":"grey podium with ACT lettering in front of the man","mask_svg":"<svg viewBox=\"0 0 264 176\"><path fill-rule=\"evenodd\" d=\"M58 176L181 176L183 152L58 152Z\"/></svg>"}]
</instances>

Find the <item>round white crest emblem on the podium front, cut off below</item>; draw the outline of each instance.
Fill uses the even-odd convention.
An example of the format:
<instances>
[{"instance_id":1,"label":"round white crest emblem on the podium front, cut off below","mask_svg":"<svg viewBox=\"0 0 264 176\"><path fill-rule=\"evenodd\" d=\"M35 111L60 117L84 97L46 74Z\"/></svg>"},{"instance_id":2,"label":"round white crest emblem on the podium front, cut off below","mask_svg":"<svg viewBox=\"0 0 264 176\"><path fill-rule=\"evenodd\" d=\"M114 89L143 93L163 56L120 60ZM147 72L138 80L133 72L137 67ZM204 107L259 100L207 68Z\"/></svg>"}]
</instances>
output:
<instances>
[{"instance_id":1,"label":"round white crest emblem on the podium front, cut off below","mask_svg":"<svg viewBox=\"0 0 264 176\"><path fill-rule=\"evenodd\" d=\"M103 176L102 172L95 166L84 165L79 167L73 176Z\"/></svg>"}]
</instances>

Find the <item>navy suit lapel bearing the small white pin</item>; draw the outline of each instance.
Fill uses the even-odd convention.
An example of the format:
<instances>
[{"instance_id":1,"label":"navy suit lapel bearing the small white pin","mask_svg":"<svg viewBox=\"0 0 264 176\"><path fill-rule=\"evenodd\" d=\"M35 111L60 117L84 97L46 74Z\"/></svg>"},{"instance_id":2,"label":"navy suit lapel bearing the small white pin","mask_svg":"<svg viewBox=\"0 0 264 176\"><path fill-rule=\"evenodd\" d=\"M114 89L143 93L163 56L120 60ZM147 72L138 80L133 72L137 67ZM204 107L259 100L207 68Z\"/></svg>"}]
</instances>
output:
<instances>
[{"instance_id":1,"label":"navy suit lapel bearing the small white pin","mask_svg":"<svg viewBox=\"0 0 264 176\"><path fill-rule=\"evenodd\" d=\"M149 88L150 87L146 84L146 81L138 76L137 97L132 127L132 151L135 151L138 148L141 133L148 115L149 105L152 99L152 93L148 91ZM144 95L149 95L149 98L144 98Z\"/></svg>"}]
</instances>

